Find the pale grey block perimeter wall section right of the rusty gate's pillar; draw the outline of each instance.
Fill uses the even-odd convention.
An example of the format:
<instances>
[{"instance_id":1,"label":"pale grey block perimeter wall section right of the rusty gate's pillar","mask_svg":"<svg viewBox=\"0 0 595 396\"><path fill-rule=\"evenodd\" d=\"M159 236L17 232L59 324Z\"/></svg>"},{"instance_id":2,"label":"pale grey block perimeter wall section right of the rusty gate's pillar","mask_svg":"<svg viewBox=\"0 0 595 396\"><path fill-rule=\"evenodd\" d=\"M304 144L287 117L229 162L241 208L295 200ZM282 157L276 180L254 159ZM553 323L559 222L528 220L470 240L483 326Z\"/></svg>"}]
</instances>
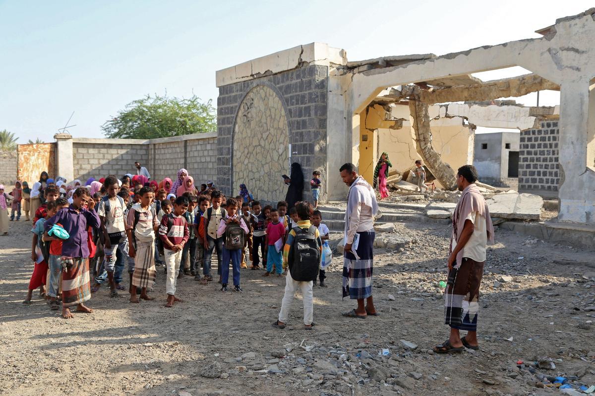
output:
<instances>
[{"instance_id":1,"label":"pale grey block perimeter wall section right of the rusty gate's pillar","mask_svg":"<svg viewBox=\"0 0 595 396\"><path fill-rule=\"evenodd\" d=\"M148 149L146 144L112 144L109 139L105 139L105 143L74 141L74 178L84 183L89 178L98 179L107 175L121 178L126 173L134 174L134 161L148 163Z\"/></svg>"}]
</instances>

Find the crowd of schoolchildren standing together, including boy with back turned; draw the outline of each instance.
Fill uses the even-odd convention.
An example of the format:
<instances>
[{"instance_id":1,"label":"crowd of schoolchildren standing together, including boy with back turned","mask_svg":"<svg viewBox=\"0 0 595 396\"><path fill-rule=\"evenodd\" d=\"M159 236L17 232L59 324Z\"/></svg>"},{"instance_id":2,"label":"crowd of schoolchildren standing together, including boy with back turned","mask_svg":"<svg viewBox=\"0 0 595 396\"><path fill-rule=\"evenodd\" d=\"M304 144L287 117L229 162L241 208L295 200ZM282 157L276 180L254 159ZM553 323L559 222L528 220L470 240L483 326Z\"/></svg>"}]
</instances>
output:
<instances>
[{"instance_id":1,"label":"crowd of schoolchildren standing together, including boy with back turned","mask_svg":"<svg viewBox=\"0 0 595 396\"><path fill-rule=\"evenodd\" d=\"M90 188L77 186L68 199L61 196L58 186L50 184L43 189L45 203L33 219L31 256L35 267L24 304L30 304L33 291L40 288L49 309L58 310L62 305L64 318L73 316L73 306L78 312L92 312L84 302L102 284L109 285L110 297L119 297L118 290L126 290L121 285L125 267L130 302L153 300L148 292L155 283L156 265L162 264L165 306L171 307L181 302L176 295L178 278L194 275L203 284L212 281L214 251L221 292L228 290L231 263L233 290L241 293L240 268L248 268L248 259L252 270L260 268L262 261L263 276L280 277L291 274L293 264L299 261L290 252L303 245L296 244L300 248L294 249L302 233L309 232L311 237L306 239L314 241L315 251L320 250L320 254L304 255L303 262L312 257L320 262L322 246L328 244L328 227L321 223L320 211L314 211L306 201L298 202L288 213L285 201L278 202L276 208L262 207L250 194L226 198L213 186L176 197L149 183L136 183L129 189L130 182L111 175L93 181ZM2 197L4 194L0 205ZM305 307L310 307L305 308L306 328L313 325L309 318L312 299L308 297L312 281L318 277L320 286L326 286L325 271L318 262L309 281L287 276L286 297L275 327L283 327L287 321L288 304L297 288L305 293Z\"/></svg>"}]
</instances>

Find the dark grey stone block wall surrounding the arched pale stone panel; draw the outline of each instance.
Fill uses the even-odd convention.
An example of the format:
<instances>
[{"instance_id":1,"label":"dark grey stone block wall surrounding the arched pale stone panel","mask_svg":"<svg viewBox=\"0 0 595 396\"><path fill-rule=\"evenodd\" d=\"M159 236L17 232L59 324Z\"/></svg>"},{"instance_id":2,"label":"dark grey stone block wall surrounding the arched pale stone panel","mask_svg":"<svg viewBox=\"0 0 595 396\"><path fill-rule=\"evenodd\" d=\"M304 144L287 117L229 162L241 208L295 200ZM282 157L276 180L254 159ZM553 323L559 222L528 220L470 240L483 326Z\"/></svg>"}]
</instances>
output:
<instances>
[{"instance_id":1,"label":"dark grey stone block wall surrounding the arched pale stone panel","mask_svg":"<svg viewBox=\"0 0 595 396\"><path fill-rule=\"evenodd\" d=\"M328 66L308 65L250 81L224 85L219 88L217 99L217 184L230 194L235 192L232 180L231 150L234 147L234 126L240 104L246 94L256 87L266 85L280 98L289 120L289 143L292 145L291 161L302 165L305 176L305 197L309 197L309 179L312 170L318 169L326 179L327 153L327 90ZM258 139L255 136L254 139ZM266 161L263 166L267 166ZM283 164L289 175L289 161ZM279 175L280 177L280 175ZM237 183L236 183L237 184ZM324 196L325 191L322 190ZM266 199L263 197L262 199Z\"/></svg>"}]
</instances>

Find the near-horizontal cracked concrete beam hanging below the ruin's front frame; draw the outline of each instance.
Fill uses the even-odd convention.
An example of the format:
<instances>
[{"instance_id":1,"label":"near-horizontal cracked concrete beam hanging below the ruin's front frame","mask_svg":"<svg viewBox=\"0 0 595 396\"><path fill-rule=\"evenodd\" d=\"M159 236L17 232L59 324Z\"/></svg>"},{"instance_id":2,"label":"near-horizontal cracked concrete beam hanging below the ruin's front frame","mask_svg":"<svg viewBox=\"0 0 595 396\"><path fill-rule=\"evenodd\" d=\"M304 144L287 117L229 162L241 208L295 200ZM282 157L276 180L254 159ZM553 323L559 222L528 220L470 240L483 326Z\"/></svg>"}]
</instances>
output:
<instances>
[{"instance_id":1,"label":"near-horizontal cracked concrete beam hanging below the ruin's front frame","mask_svg":"<svg viewBox=\"0 0 595 396\"><path fill-rule=\"evenodd\" d=\"M477 85L459 85L450 88L430 88L422 90L414 85L403 87L402 94L418 91L419 100L423 103L465 102L468 100L490 100L500 97L518 97L531 92L543 90L560 90L558 84L552 83L536 74L526 74L503 80L488 81Z\"/></svg>"}]
</instances>

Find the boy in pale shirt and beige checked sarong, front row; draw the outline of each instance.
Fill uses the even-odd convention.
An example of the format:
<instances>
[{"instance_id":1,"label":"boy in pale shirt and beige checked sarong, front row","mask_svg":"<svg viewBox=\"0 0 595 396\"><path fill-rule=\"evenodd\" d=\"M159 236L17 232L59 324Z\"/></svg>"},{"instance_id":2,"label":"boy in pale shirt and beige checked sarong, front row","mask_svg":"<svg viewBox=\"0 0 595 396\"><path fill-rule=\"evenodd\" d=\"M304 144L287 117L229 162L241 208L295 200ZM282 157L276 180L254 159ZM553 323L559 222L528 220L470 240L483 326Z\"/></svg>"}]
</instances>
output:
<instances>
[{"instance_id":1,"label":"boy in pale shirt and beige checked sarong, front row","mask_svg":"<svg viewBox=\"0 0 595 396\"><path fill-rule=\"evenodd\" d=\"M136 288L140 287L140 298L154 300L149 297L147 287L155 283L155 231L159 226L157 213L151 205L153 191L143 187L138 192L140 203L133 205L128 213L126 232L128 236L128 254L134 258L134 271L130 274L130 302L140 302L136 296Z\"/></svg>"}]
</instances>

